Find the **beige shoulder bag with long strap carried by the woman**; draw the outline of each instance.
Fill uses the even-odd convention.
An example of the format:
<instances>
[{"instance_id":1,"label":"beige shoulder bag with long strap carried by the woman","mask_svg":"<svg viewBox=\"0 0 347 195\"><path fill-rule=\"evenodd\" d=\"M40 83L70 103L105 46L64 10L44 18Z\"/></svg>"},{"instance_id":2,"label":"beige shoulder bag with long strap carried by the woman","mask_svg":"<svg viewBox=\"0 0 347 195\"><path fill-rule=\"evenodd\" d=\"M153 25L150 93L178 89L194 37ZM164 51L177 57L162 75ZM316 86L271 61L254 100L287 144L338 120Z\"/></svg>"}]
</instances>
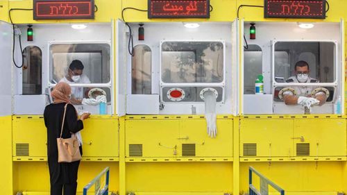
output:
<instances>
[{"instance_id":1,"label":"beige shoulder bag with long strap carried by the woman","mask_svg":"<svg viewBox=\"0 0 347 195\"><path fill-rule=\"evenodd\" d=\"M62 130L64 128L67 104L65 104L64 107L64 117L62 117L62 129L60 132L60 137L57 138L58 162L75 162L81 160L82 158L76 135L74 133L71 133L71 138L62 138Z\"/></svg>"}]
</instances>

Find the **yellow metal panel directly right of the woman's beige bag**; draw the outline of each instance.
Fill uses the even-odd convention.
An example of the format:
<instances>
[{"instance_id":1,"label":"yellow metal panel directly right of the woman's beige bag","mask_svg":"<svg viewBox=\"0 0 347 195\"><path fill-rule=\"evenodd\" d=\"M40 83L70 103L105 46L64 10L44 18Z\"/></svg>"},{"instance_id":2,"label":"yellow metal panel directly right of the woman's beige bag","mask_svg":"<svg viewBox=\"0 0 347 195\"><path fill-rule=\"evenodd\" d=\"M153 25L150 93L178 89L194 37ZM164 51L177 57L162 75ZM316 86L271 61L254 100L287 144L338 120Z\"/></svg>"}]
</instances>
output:
<instances>
[{"instance_id":1,"label":"yellow metal panel directly right of the woman's beige bag","mask_svg":"<svg viewBox=\"0 0 347 195\"><path fill-rule=\"evenodd\" d=\"M83 121L83 126L84 157L119 156L117 119L87 119Z\"/></svg>"}]
</instances>

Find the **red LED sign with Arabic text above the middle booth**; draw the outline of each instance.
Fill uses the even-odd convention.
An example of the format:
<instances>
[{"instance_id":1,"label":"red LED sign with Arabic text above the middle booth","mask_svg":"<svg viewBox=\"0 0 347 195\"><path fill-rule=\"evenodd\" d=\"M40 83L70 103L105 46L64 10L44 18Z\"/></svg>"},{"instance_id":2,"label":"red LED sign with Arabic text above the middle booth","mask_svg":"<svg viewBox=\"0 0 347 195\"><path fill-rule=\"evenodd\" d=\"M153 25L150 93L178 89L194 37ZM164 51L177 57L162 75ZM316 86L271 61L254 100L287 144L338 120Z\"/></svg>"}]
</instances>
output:
<instances>
[{"instance_id":1,"label":"red LED sign with Arabic text above the middle booth","mask_svg":"<svg viewBox=\"0 0 347 195\"><path fill-rule=\"evenodd\" d=\"M210 18L210 0L148 0L149 18Z\"/></svg>"}]
</instances>

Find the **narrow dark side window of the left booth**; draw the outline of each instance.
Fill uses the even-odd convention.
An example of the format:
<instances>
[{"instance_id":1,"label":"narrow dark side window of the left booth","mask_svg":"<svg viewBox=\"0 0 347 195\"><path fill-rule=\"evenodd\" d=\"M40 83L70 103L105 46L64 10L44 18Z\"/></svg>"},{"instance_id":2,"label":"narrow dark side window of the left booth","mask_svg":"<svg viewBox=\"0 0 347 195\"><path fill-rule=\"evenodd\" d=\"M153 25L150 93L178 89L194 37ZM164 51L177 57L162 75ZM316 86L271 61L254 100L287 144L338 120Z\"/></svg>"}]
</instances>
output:
<instances>
[{"instance_id":1,"label":"narrow dark side window of the left booth","mask_svg":"<svg viewBox=\"0 0 347 195\"><path fill-rule=\"evenodd\" d=\"M23 93L42 94L42 52L37 46L27 46L23 50Z\"/></svg>"}]
</instances>

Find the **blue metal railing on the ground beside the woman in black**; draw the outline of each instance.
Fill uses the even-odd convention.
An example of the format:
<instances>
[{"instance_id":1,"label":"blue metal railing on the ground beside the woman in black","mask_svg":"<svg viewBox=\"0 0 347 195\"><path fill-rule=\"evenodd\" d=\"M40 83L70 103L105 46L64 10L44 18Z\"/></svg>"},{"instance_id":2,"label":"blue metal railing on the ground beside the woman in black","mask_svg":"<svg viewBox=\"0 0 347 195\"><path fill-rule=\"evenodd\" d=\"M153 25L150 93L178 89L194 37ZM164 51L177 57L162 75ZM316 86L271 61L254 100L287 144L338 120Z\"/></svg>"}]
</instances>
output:
<instances>
[{"instance_id":1,"label":"blue metal railing on the ground beside the woman in black","mask_svg":"<svg viewBox=\"0 0 347 195\"><path fill-rule=\"evenodd\" d=\"M101 188L101 177L105 176L105 184ZM83 187L83 195L87 195L88 189L90 189L93 185L95 185L95 195L107 195L108 194L108 183L110 180L110 167L106 167L96 176L90 183L88 183L85 187Z\"/></svg>"}]
</instances>

